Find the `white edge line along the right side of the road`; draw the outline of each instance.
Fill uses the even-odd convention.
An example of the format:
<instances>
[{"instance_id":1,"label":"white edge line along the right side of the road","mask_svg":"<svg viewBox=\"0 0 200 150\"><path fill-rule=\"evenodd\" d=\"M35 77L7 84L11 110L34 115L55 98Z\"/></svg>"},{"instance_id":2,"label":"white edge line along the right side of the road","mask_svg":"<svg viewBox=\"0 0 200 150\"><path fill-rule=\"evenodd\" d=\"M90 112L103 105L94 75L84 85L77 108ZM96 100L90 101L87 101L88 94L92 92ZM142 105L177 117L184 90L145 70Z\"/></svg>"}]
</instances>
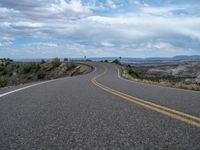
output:
<instances>
[{"instance_id":1,"label":"white edge line along the right side of the road","mask_svg":"<svg viewBox=\"0 0 200 150\"><path fill-rule=\"evenodd\" d=\"M148 85L148 86L155 86L155 87L160 87L160 88L168 88L168 89L177 90L177 91L186 91L186 92L199 93L199 91L193 91L193 90L189 90L189 89L188 90L186 90L186 89L179 89L179 88L173 88L173 87L167 87L167 86L161 86L161 85L155 85L155 84L142 83L140 81L128 80L128 79L123 78L120 75L120 71L119 71L119 68L117 66L116 66L116 69L117 69L117 72L118 72L118 78L121 79L121 80L127 81L127 82L132 82L132 83L137 83L137 84L143 84L143 85Z\"/></svg>"}]
</instances>

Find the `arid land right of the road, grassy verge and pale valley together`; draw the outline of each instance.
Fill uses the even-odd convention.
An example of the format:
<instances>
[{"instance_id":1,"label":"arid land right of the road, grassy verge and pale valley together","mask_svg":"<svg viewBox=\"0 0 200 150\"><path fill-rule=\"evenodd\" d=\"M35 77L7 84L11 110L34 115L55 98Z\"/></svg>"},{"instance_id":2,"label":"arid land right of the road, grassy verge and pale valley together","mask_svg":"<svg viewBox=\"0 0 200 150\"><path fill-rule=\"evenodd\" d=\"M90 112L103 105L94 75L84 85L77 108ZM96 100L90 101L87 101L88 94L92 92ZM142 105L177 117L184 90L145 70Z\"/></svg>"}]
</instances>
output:
<instances>
[{"instance_id":1,"label":"arid land right of the road, grassy verge and pale valley together","mask_svg":"<svg viewBox=\"0 0 200 150\"><path fill-rule=\"evenodd\" d=\"M200 61L132 62L126 67L124 77L168 87L200 90Z\"/></svg>"}]
</instances>

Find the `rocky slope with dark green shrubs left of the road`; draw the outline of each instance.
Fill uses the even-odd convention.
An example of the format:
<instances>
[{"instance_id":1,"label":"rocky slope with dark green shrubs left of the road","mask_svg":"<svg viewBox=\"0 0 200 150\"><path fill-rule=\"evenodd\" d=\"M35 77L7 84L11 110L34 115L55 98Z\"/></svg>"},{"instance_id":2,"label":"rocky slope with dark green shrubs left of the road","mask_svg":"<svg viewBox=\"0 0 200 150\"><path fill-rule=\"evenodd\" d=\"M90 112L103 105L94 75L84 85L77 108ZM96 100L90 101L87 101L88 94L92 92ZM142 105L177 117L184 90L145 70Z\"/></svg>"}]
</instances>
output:
<instances>
[{"instance_id":1,"label":"rocky slope with dark green shrubs left of the road","mask_svg":"<svg viewBox=\"0 0 200 150\"><path fill-rule=\"evenodd\" d=\"M89 66L63 62L59 58L41 62L14 62L0 59L0 87L23 84L40 80L50 80L65 76L84 74L91 71Z\"/></svg>"}]
</instances>

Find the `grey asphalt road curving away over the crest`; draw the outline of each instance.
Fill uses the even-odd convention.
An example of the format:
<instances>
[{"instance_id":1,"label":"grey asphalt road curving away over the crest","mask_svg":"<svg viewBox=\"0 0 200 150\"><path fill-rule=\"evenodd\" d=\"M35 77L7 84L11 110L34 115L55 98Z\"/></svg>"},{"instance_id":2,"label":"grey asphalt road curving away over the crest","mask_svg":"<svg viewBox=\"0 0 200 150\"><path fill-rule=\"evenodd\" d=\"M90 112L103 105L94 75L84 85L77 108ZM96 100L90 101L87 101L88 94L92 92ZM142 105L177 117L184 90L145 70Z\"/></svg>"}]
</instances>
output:
<instances>
[{"instance_id":1,"label":"grey asphalt road curving away over the crest","mask_svg":"<svg viewBox=\"0 0 200 150\"><path fill-rule=\"evenodd\" d=\"M200 92L81 76L0 90L0 150L200 149Z\"/></svg>"}]
</instances>

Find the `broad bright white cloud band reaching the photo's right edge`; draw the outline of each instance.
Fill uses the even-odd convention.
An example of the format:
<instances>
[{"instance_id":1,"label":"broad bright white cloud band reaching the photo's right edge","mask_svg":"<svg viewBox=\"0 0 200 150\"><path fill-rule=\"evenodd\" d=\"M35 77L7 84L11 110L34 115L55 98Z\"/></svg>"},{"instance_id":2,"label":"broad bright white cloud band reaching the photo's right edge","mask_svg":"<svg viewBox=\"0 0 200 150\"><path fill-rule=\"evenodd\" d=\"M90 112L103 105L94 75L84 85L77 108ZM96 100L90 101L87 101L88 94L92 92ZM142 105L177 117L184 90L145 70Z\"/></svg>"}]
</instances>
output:
<instances>
[{"instance_id":1,"label":"broad bright white cloud band reaching the photo's right edge","mask_svg":"<svg viewBox=\"0 0 200 150\"><path fill-rule=\"evenodd\" d=\"M119 17L92 16L87 20L101 25L105 30L110 29L119 36L127 38L145 38L169 36L177 34L200 40L200 18L178 18L158 16L128 15ZM108 34L110 36L110 34Z\"/></svg>"}]
</instances>

